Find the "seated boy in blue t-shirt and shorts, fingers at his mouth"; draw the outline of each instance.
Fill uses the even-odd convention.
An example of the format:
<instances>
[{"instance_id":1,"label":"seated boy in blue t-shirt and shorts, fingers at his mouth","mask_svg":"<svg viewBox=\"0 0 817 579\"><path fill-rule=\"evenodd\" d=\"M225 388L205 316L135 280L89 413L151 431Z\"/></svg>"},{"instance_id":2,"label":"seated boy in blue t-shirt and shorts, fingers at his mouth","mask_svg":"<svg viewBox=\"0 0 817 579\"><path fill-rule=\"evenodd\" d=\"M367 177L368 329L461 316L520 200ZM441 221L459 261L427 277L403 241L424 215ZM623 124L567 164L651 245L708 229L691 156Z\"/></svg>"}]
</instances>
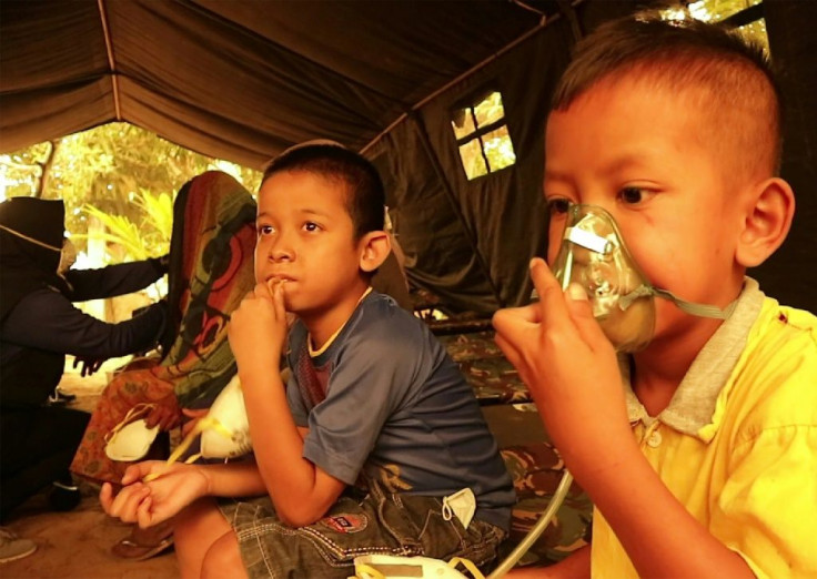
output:
<instances>
[{"instance_id":1,"label":"seated boy in blue t-shirt and shorts, fingers at his mouth","mask_svg":"<svg viewBox=\"0 0 817 579\"><path fill-rule=\"evenodd\" d=\"M376 170L336 143L266 169L258 285L229 328L254 460L142 463L101 494L142 527L181 511L182 577L345 579L367 553L496 557L514 492L473 392L423 322L370 287L390 250L384 201ZM259 495L221 511L212 498Z\"/></svg>"}]
</instances>

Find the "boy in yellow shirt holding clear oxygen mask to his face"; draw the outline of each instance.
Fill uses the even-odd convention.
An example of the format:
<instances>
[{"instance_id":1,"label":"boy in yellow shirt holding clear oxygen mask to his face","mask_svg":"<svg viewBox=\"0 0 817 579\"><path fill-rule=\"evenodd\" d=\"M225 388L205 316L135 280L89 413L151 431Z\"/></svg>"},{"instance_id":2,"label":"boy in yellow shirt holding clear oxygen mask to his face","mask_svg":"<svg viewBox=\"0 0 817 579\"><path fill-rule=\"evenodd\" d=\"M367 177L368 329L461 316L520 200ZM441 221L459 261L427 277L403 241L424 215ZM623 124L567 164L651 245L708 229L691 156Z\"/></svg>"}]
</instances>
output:
<instances>
[{"instance_id":1,"label":"boy in yellow shirt holding clear oxygen mask to his face","mask_svg":"<svg viewBox=\"0 0 817 579\"><path fill-rule=\"evenodd\" d=\"M553 273L534 260L541 302L494 325L593 541L515 576L817 575L817 319L745 276L794 213L778 103L709 24L638 14L577 47L545 140Z\"/></svg>"}]
</instances>

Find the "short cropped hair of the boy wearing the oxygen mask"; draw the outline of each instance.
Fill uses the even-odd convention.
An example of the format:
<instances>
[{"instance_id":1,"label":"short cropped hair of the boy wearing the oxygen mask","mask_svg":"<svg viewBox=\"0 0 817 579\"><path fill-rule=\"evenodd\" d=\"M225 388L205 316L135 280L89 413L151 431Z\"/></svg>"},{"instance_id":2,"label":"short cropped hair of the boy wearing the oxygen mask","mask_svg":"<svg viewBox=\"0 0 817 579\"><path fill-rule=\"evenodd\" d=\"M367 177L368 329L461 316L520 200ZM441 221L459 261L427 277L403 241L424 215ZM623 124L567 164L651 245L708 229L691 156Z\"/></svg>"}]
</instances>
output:
<instances>
[{"instance_id":1,"label":"short cropped hair of the boy wearing the oxygen mask","mask_svg":"<svg viewBox=\"0 0 817 579\"><path fill-rule=\"evenodd\" d=\"M758 44L717 24L637 12L602 24L576 44L552 110L566 110L595 84L616 78L698 96L710 131L720 144L726 139L742 170L778 173L780 91Z\"/></svg>"}]
</instances>

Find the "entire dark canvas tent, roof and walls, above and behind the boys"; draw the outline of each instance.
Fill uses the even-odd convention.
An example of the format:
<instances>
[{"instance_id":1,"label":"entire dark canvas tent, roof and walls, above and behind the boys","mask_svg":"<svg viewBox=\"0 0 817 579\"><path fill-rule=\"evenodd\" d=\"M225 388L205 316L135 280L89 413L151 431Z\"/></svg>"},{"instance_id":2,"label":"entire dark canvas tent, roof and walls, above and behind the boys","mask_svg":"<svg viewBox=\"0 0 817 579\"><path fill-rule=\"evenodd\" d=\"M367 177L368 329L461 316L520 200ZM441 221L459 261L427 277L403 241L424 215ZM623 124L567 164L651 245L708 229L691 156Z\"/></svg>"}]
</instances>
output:
<instances>
[{"instance_id":1,"label":"entire dark canvas tent, roof and walls, above and behind the boys","mask_svg":"<svg viewBox=\"0 0 817 579\"><path fill-rule=\"evenodd\" d=\"M485 315L526 302L527 261L545 250L542 128L572 44L645 3L3 0L0 150L128 121L259 167L334 139L381 170L412 283ZM786 72L784 175L798 215L755 275L817 312L815 3L760 10ZM485 91L502 94L516 163L468 181L452 114Z\"/></svg>"}]
</instances>

